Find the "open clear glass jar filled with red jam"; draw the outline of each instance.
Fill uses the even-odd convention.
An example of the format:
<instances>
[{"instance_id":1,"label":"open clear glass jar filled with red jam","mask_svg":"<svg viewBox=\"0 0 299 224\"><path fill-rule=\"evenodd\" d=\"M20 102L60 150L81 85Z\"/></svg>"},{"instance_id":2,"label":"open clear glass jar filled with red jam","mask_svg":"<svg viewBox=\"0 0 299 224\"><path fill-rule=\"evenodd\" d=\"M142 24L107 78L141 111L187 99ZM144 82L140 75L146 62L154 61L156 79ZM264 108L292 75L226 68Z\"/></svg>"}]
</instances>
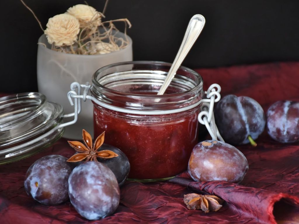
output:
<instances>
[{"instance_id":1,"label":"open clear glass jar filled with red jam","mask_svg":"<svg viewBox=\"0 0 299 224\"><path fill-rule=\"evenodd\" d=\"M102 67L92 78L94 138L105 131L105 143L126 154L131 180L170 179L185 171L198 142L202 78L180 67L167 91L157 95L170 67L122 62Z\"/></svg>"}]
</instances>

